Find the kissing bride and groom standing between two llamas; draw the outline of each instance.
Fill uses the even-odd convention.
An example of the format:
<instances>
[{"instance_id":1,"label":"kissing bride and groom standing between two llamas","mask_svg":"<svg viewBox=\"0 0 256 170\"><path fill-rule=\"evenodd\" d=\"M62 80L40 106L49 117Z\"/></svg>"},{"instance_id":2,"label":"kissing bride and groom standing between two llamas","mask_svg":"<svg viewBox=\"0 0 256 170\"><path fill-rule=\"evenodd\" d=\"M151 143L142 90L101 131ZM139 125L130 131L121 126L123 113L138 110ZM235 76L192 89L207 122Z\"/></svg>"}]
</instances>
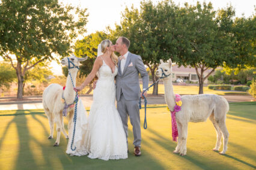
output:
<instances>
[{"instance_id":1,"label":"kissing bride and groom standing between two llamas","mask_svg":"<svg viewBox=\"0 0 256 170\"><path fill-rule=\"evenodd\" d=\"M68 154L88 154L91 159L126 159L129 153L127 123L130 117L134 154L141 155L139 98L148 87L148 74L141 56L130 53L129 46L130 41L126 37L119 37L115 45L110 40L103 40L98 46L92 71L80 86L74 88L79 92L93 81L96 74L99 77L93 92L85 135L79 136L81 142L76 145L75 151L70 150L69 141ZM120 53L120 57L114 51ZM139 74L143 82L142 92ZM147 96L147 92L144 92L144 96Z\"/></svg>"}]
</instances>

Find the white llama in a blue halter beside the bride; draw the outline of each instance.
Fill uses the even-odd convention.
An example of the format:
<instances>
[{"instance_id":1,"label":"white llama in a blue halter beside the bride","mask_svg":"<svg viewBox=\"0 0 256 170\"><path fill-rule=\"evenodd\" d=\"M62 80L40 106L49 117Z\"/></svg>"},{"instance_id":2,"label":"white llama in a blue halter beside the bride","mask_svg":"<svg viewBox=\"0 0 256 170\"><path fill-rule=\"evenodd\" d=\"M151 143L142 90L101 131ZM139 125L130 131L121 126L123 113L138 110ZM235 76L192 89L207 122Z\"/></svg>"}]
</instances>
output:
<instances>
[{"instance_id":1,"label":"white llama in a blue halter beside the bride","mask_svg":"<svg viewBox=\"0 0 256 170\"><path fill-rule=\"evenodd\" d=\"M59 145L59 138L61 135L61 131L64 134L65 138L69 138L64 129L62 111L64 110L64 101L67 105L72 105L75 101L76 92L73 90L73 84L76 86L76 75L78 74L79 69L79 62L86 60L87 57L78 58L74 54L70 57L66 57L61 60L62 65L65 65L69 68L70 74L67 76L66 88L65 90L59 84L50 84L43 92L43 108L44 112L46 113L49 119L50 125L50 136L48 139L53 138L53 129L54 123L56 122L56 131L57 131L57 138L56 142L53 146ZM70 78L72 77L72 80ZM64 99L62 99L62 96ZM69 125L68 129L70 129L70 125L72 123L72 118L74 114L74 107L68 107L66 113L69 113Z\"/></svg>"}]
</instances>

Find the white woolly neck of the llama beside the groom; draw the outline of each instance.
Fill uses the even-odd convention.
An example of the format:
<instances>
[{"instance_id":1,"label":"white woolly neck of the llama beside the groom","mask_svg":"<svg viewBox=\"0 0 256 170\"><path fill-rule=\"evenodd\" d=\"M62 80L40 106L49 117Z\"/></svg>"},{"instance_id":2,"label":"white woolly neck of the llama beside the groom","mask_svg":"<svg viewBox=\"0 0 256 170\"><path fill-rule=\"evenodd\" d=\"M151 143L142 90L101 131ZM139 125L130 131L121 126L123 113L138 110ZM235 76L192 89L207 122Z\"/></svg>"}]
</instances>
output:
<instances>
[{"instance_id":1,"label":"white woolly neck of the llama beside the groom","mask_svg":"<svg viewBox=\"0 0 256 170\"><path fill-rule=\"evenodd\" d=\"M165 86L165 102L168 105L169 110L173 111L176 103L171 75L169 77L163 78L163 85Z\"/></svg>"}]
</instances>

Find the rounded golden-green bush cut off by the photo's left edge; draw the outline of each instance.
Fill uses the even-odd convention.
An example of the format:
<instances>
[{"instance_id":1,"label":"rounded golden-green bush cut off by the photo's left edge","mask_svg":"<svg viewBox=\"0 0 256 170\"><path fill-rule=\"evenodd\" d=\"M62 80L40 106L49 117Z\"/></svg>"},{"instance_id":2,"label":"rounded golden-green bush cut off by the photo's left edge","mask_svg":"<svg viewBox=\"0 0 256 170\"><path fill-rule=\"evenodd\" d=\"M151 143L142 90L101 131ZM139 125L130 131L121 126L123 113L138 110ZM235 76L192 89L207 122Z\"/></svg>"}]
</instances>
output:
<instances>
[{"instance_id":1,"label":"rounded golden-green bush cut off by the photo's left edge","mask_svg":"<svg viewBox=\"0 0 256 170\"><path fill-rule=\"evenodd\" d=\"M10 83L12 83L16 78L15 70L11 67L9 63L1 62L0 63L0 88L2 87L10 87Z\"/></svg>"}]
</instances>

